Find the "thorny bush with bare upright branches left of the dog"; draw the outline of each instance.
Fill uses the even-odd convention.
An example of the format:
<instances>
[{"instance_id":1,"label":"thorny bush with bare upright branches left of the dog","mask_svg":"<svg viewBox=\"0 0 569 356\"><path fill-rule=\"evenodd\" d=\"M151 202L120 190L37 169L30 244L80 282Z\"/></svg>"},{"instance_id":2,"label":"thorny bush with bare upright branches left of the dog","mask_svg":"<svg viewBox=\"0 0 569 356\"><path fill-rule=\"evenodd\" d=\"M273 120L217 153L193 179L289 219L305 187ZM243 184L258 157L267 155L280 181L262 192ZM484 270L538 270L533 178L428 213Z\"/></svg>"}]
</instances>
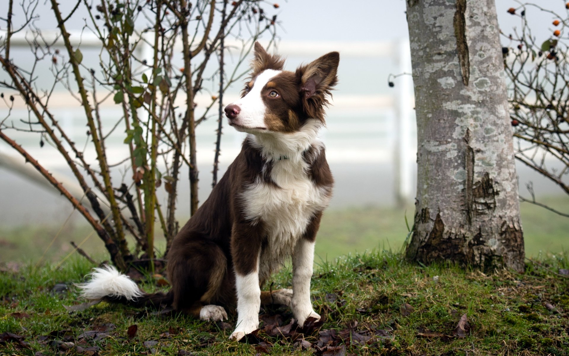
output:
<instances>
[{"instance_id":1,"label":"thorny bush with bare upright branches left of the dog","mask_svg":"<svg viewBox=\"0 0 569 356\"><path fill-rule=\"evenodd\" d=\"M196 127L213 116L209 111L214 105L222 107L224 91L244 75L240 67L254 41L266 33L273 43L277 17L266 15L263 7L271 3L261 0L76 0L65 14L55 0L48 4L10 0L9 13L0 16L6 23L0 27L0 66L7 74L0 81L5 90L0 105L6 108L0 139L77 206L119 269L137 260L152 269L154 221L162 228L167 249L178 232L175 211L183 167L190 170L191 189L190 198L182 201L191 202L192 214L197 209ZM44 33L35 26L43 11L51 11L59 32ZM73 18L84 19L80 34L67 29ZM227 46L228 37L241 45ZM30 66L14 60L24 55L23 43L32 54ZM180 43L181 54L176 47ZM224 53L234 49L239 54L234 63L224 61ZM219 60L212 60L216 56ZM232 70L224 70L230 66ZM46 75L52 75L51 83ZM204 89L208 81L219 83L215 95ZM196 109L195 98L204 92L211 101ZM62 124L66 109L57 105L70 99L82 108L73 122L87 126L79 130L84 136L70 131L69 121ZM109 117L112 105L117 109ZM125 132L119 132L121 122ZM23 137L23 145L15 143L12 132L18 140ZM216 163L220 140L219 130ZM34 158L38 148L33 142L38 141L39 149L63 158L92 212ZM161 204L163 195L166 203ZM126 236L134 239L134 248Z\"/></svg>"}]
</instances>

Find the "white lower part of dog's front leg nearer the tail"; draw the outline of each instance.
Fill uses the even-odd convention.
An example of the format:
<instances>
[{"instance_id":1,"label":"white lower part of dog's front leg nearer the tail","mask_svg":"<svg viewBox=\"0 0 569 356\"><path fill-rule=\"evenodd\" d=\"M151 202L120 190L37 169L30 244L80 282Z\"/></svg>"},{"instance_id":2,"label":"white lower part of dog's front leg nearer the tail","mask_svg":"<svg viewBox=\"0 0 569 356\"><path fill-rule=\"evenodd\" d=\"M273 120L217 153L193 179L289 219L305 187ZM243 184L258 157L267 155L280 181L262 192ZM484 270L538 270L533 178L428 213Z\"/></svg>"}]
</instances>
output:
<instances>
[{"instance_id":1,"label":"white lower part of dog's front leg nearer the tail","mask_svg":"<svg viewBox=\"0 0 569 356\"><path fill-rule=\"evenodd\" d=\"M237 326L230 339L241 339L259 328L259 309L261 309L261 288L259 273L256 271L241 276L235 273L237 289Z\"/></svg>"}]
</instances>

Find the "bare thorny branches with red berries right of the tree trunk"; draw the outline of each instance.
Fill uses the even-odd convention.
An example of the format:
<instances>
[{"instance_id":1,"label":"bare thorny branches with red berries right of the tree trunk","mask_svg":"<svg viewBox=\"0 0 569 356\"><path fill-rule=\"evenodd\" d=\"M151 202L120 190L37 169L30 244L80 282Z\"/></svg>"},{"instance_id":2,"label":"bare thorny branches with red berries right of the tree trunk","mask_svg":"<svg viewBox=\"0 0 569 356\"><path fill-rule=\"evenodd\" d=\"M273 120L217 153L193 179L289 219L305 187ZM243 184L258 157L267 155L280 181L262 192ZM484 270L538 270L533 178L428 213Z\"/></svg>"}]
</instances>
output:
<instances>
[{"instance_id":1,"label":"bare thorny branches with red berries right of the tree trunk","mask_svg":"<svg viewBox=\"0 0 569 356\"><path fill-rule=\"evenodd\" d=\"M534 3L521 3L508 12L519 17L520 28L504 36L502 48L508 75L510 117L516 138L516 159L554 182L569 194L569 17ZM551 35L536 38L526 14L539 11L551 15ZM520 198L569 216L531 199Z\"/></svg>"}]
</instances>

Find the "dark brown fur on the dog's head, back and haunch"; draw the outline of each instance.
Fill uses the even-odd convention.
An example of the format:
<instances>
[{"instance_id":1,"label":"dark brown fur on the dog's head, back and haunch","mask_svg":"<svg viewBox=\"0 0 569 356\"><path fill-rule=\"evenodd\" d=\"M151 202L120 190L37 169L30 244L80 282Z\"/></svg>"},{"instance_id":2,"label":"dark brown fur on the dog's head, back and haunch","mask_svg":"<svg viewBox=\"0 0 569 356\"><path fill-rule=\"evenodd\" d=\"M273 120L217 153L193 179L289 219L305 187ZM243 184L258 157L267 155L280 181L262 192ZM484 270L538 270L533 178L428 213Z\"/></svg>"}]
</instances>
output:
<instances>
[{"instance_id":1,"label":"dark brown fur on the dog's head, back and haunch","mask_svg":"<svg viewBox=\"0 0 569 356\"><path fill-rule=\"evenodd\" d=\"M325 99L337 83L337 52L324 55L296 72L283 71L262 89L271 129L294 132L308 120L324 122ZM248 88L265 69L281 70L284 60L269 55L258 43L251 68ZM271 90L279 96L268 96ZM308 177L314 184L331 194L333 178L326 162L324 149L311 146L303 153L308 165ZM209 198L174 238L168 252L167 275L170 292L146 294L136 305L172 305L177 310L199 316L202 304L232 306L236 304L234 273L247 275L257 268L257 259L267 244L266 226L270 221L248 220L244 212L246 187L261 181L280 189L271 179L273 163L263 158L250 138L243 142L240 154L228 167ZM322 211L311 217L302 238L314 241L320 226ZM265 281L261 280L262 285ZM270 302L269 292L261 294Z\"/></svg>"}]
</instances>

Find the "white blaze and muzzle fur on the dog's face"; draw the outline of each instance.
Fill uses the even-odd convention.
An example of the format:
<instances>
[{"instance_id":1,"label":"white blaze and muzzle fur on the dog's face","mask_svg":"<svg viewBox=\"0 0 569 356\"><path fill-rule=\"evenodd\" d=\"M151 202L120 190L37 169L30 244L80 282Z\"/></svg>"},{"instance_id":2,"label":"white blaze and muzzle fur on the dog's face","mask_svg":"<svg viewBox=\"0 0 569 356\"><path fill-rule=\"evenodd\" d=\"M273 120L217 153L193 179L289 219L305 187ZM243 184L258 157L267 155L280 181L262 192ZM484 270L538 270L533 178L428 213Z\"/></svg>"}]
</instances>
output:
<instances>
[{"instance_id":1,"label":"white blaze and muzzle fur on the dog's face","mask_svg":"<svg viewBox=\"0 0 569 356\"><path fill-rule=\"evenodd\" d=\"M265 102L261 97L261 91L265 84L278 73L282 71L275 71L274 69L266 69L261 72L253 83L253 88L241 99L237 100L234 105L237 105L241 111L234 120L235 125L242 126L241 129L267 129L265 124ZM240 129L236 127L236 129Z\"/></svg>"}]
</instances>

